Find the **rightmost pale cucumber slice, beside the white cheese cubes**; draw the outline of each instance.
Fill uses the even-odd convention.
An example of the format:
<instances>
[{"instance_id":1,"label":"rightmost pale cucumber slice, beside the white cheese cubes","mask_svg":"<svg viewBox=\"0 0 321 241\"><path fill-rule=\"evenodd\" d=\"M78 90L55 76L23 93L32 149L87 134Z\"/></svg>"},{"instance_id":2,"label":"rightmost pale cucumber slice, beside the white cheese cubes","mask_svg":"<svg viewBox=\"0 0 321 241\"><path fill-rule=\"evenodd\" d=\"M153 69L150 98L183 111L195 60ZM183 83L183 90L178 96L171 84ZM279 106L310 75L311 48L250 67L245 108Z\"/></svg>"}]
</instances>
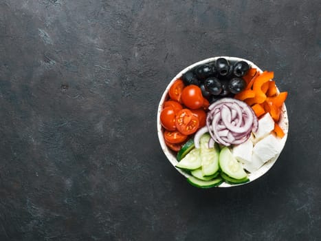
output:
<instances>
[{"instance_id":1,"label":"rightmost pale cucumber slice, beside the white cheese cubes","mask_svg":"<svg viewBox=\"0 0 321 241\"><path fill-rule=\"evenodd\" d=\"M228 147L221 149L219 154L219 166L221 167L221 170L231 178L239 180L247 177L241 163L234 158Z\"/></svg>"}]
</instances>

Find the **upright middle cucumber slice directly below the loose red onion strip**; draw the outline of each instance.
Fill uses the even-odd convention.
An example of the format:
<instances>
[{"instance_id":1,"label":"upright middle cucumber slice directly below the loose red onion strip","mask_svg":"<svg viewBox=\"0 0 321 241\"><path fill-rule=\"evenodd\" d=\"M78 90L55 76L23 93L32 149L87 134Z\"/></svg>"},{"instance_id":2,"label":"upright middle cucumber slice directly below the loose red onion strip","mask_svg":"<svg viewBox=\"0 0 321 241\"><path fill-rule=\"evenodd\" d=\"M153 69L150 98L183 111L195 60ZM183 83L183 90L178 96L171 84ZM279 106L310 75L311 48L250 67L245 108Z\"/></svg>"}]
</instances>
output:
<instances>
[{"instance_id":1,"label":"upright middle cucumber slice directly below the loose red onion strip","mask_svg":"<svg viewBox=\"0 0 321 241\"><path fill-rule=\"evenodd\" d=\"M215 143L214 148L201 147L203 176L212 176L219 171L219 152L217 143Z\"/></svg>"}]
</instances>

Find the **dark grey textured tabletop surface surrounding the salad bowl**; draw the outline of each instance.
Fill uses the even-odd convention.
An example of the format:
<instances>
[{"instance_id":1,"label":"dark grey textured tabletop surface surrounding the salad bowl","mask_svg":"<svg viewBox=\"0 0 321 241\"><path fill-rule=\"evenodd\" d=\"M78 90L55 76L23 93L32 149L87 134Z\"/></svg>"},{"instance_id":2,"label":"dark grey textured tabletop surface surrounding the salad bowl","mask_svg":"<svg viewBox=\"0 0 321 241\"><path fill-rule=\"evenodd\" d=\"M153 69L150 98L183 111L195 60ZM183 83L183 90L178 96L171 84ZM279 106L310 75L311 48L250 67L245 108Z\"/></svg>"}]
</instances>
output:
<instances>
[{"instance_id":1,"label":"dark grey textured tabletop surface surrounding the salad bowl","mask_svg":"<svg viewBox=\"0 0 321 241\"><path fill-rule=\"evenodd\" d=\"M321 2L2 0L0 240L321 240ZM262 178L190 186L159 146L168 82L274 71L289 136Z\"/></svg>"}]
</instances>

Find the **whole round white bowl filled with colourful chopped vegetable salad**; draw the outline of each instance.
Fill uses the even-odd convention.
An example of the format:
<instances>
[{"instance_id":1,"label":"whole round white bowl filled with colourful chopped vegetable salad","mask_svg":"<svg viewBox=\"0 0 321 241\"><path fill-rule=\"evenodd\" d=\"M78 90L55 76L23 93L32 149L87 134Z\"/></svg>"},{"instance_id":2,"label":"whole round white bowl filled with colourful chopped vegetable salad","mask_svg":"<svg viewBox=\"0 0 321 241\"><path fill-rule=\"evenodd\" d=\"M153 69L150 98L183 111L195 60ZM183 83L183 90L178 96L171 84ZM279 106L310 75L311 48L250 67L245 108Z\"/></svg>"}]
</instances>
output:
<instances>
[{"instance_id":1,"label":"whole round white bowl filled with colourful chopped vegetable salad","mask_svg":"<svg viewBox=\"0 0 321 241\"><path fill-rule=\"evenodd\" d=\"M157 132L170 163L195 187L233 187L263 176L285 146L289 122L274 72L220 56L168 84Z\"/></svg>"}]
</instances>

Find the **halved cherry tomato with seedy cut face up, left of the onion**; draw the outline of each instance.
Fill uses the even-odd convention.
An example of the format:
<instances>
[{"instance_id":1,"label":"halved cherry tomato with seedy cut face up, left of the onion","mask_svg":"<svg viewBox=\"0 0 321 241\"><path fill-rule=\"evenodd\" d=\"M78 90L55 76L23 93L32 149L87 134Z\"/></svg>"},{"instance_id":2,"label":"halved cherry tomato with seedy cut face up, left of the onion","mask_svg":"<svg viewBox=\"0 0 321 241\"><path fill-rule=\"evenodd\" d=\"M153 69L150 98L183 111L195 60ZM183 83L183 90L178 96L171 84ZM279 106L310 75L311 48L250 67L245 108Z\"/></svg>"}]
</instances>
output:
<instances>
[{"instance_id":1,"label":"halved cherry tomato with seedy cut face up, left of the onion","mask_svg":"<svg viewBox=\"0 0 321 241\"><path fill-rule=\"evenodd\" d=\"M199 119L190 109L181 109L176 114L176 128L181 134L193 134L199 128Z\"/></svg>"}]
</instances>

